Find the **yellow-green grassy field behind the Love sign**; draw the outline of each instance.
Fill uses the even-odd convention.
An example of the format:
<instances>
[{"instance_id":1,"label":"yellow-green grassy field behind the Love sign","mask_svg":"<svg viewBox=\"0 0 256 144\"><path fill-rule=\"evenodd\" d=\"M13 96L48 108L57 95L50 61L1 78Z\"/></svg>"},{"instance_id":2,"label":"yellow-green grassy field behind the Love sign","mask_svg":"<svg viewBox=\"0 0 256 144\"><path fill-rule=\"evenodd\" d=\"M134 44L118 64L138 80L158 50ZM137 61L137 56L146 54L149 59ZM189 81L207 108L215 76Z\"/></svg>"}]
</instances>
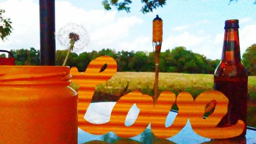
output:
<instances>
[{"instance_id":1,"label":"yellow-green grassy field behind the Love sign","mask_svg":"<svg viewBox=\"0 0 256 144\"><path fill-rule=\"evenodd\" d=\"M153 95L154 78L153 72L117 72L106 83L97 85L93 101L115 101L135 90ZM248 125L256 127L256 76L248 79ZM196 97L213 88L214 76L211 74L159 73L159 91L168 90L176 95L186 91Z\"/></svg>"}]
</instances>

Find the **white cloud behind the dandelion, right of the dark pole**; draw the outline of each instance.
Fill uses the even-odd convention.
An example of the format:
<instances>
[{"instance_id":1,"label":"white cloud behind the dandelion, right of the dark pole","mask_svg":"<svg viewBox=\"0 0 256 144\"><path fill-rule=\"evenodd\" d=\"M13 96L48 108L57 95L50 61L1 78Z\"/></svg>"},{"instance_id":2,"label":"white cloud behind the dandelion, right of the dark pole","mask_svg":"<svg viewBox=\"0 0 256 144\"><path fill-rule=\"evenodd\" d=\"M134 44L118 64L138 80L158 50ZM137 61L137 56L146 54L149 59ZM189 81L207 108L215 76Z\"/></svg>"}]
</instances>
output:
<instances>
[{"instance_id":1,"label":"white cloud behind the dandelion, right of the dark pole","mask_svg":"<svg viewBox=\"0 0 256 144\"><path fill-rule=\"evenodd\" d=\"M90 43L82 51L100 50L102 48L116 48L116 42L129 36L134 25L142 20L136 16L116 16L117 11L90 10L76 8L69 2L56 4L56 31L61 25L73 22L85 26L90 34ZM56 42L56 49L64 49ZM82 51L78 52L81 53Z\"/></svg>"}]
</instances>

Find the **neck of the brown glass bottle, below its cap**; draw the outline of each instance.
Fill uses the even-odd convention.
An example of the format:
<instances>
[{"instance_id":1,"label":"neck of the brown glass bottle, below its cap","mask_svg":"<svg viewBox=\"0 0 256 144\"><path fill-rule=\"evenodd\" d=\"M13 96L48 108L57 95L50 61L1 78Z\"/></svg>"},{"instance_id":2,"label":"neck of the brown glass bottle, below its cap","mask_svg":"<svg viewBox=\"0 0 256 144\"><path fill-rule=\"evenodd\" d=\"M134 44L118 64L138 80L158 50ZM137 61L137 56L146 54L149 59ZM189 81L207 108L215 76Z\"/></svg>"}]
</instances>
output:
<instances>
[{"instance_id":1,"label":"neck of the brown glass bottle, below its cap","mask_svg":"<svg viewBox=\"0 0 256 144\"><path fill-rule=\"evenodd\" d=\"M238 28L225 29L221 60L227 61L230 63L240 63L241 56L240 56Z\"/></svg>"}]
</instances>

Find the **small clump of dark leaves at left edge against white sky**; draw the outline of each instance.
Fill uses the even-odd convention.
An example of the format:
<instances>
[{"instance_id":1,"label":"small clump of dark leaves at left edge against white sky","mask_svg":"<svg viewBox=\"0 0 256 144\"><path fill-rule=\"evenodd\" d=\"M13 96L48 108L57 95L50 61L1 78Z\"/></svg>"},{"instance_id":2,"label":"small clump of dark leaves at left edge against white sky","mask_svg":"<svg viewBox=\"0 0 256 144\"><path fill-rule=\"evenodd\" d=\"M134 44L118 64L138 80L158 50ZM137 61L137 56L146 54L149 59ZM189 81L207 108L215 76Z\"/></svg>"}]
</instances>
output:
<instances>
[{"instance_id":1,"label":"small clump of dark leaves at left edge against white sky","mask_svg":"<svg viewBox=\"0 0 256 144\"><path fill-rule=\"evenodd\" d=\"M12 32L12 22L10 18L5 18L3 16L4 13L5 10L0 9L0 37L3 41L7 39L6 37Z\"/></svg>"}]
</instances>

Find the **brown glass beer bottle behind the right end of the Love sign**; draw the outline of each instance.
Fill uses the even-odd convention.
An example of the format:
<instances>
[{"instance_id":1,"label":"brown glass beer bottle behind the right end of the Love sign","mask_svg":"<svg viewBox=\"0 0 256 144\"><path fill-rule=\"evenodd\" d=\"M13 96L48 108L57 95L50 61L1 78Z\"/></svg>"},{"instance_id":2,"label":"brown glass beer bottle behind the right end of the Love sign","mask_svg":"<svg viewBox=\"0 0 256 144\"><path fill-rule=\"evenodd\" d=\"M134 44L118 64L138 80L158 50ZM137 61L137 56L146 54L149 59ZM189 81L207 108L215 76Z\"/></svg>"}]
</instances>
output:
<instances>
[{"instance_id":1,"label":"brown glass beer bottle behind the right end of the Love sign","mask_svg":"<svg viewBox=\"0 0 256 144\"><path fill-rule=\"evenodd\" d=\"M237 19L225 21L225 36L221 62L214 73L214 89L221 91L229 100L227 114L218 127L229 127L243 120L245 129L239 137L246 134L247 81L246 70L241 63L239 45L239 24Z\"/></svg>"}]
</instances>

